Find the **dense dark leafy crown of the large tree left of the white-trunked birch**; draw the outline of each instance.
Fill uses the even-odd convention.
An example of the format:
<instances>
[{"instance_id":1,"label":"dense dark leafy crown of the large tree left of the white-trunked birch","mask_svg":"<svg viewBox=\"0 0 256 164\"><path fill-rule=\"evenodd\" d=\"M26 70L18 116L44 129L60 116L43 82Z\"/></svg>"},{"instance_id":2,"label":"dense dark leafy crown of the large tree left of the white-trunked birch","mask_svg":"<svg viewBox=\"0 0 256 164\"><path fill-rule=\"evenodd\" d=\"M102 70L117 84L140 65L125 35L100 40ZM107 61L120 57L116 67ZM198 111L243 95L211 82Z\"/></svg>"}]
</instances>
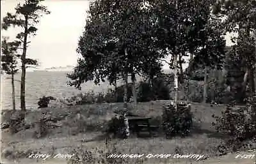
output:
<instances>
[{"instance_id":1,"label":"dense dark leafy crown of the large tree left of the white-trunked birch","mask_svg":"<svg viewBox=\"0 0 256 164\"><path fill-rule=\"evenodd\" d=\"M88 80L99 84L106 77L113 82L124 73L142 73L145 64L156 63L159 53L152 44L154 28L149 10L142 6L139 0L95 1L90 6L77 48L82 59L68 75L70 85L79 88Z\"/></svg>"}]
</instances>

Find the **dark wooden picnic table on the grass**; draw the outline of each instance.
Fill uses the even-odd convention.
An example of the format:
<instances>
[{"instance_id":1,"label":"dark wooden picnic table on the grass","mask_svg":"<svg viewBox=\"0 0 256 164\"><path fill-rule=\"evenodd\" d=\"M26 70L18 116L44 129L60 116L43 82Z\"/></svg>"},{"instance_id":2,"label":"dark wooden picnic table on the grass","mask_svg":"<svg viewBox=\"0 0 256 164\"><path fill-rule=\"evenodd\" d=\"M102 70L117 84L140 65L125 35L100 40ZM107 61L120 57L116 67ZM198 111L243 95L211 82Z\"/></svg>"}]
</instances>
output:
<instances>
[{"instance_id":1,"label":"dark wooden picnic table on the grass","mask_svg":"<svg viewBox=\"0 0 256 164\"><path fill-rule=\"evenodd\" d=\"M156 130L157 126L150 126L150 117L128 116L129 127L131 131L140 135L140 131L148 131L152 136L152 130Z\"/></svg>"}]
</instances>

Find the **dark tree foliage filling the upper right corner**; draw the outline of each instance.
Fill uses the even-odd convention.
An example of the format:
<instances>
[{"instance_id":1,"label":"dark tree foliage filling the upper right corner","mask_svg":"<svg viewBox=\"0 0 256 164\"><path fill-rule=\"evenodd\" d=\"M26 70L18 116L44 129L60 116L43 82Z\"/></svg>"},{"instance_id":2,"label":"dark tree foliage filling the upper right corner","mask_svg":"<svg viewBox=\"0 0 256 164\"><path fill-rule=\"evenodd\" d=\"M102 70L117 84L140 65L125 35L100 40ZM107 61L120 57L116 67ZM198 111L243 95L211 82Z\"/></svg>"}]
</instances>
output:
<instances>
[{"instance_id":1,"label":"dark tree foliage filling the upper right corner","mask_svg":"<svg viewBox=\"0 0 256 164\"><path fill-rule=\"evenodd\" d=\"M256 53L256 2L248 1L218 1L213 11L216 15L226 17L223 28L226 32L236 33L232 38L234 53L241 61L241 69L244 71L243 92L249 82L250 93L255 93L255 53Z\"/></svg>"}]
</instances>

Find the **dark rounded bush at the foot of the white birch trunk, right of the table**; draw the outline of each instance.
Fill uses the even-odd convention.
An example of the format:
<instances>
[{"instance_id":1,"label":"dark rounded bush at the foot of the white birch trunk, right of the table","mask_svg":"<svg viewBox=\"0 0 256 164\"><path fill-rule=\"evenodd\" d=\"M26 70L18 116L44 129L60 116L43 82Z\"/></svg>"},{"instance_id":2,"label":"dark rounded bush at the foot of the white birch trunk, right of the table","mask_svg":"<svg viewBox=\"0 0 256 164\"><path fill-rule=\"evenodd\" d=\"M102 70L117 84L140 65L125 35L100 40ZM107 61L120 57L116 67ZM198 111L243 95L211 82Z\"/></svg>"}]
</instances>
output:
<instances>
[{"instance_id":1,"label":"dark rounded bush at the foot of the white birch trunk, right of the table","mask_svg":"<svg viewBox=\"0 0 256 164\"><path fill-rule=\"evenodd\" d=\"M192 114L190 105L179 104L176 111L173 105L163 110L163 130L166 138L173 137L175 135L182 135L185 137L189 135L192 127Z\"/></svg>"}]
</instances>

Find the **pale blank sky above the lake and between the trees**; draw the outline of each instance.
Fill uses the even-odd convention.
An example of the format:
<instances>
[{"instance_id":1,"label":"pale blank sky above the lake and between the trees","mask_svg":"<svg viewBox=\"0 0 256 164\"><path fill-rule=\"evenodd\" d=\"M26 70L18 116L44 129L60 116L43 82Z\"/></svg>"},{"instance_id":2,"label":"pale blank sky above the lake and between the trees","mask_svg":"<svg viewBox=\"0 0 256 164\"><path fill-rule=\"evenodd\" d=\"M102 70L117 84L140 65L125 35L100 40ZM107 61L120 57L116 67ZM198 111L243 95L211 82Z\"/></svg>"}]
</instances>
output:
<instances>
[{"instance_id":1,"label":"pale blank sky above the lake and between the trees","mask_svg":"<svg viewBox=\"0 0 256 164\"><path fill-rule=\"evenodd\" d=\"M20 0L1 0L1 22L7 12L13 13ZM22 2L22 1L21 1ZM36 26L36 36L29 38L28 57L37 59L40 68L52 66L75 66L77 62L77 43L83 33L86 22L86 11L89 8L86 0L45 0L51 14L44 15ZM19 29L1 30L2 36L14 39ZM230 45L229 35L226 36ZM185 66L186 67L186 66ZM164 69L168 68L164 64Z\"/></svg>"}]
</instances>

